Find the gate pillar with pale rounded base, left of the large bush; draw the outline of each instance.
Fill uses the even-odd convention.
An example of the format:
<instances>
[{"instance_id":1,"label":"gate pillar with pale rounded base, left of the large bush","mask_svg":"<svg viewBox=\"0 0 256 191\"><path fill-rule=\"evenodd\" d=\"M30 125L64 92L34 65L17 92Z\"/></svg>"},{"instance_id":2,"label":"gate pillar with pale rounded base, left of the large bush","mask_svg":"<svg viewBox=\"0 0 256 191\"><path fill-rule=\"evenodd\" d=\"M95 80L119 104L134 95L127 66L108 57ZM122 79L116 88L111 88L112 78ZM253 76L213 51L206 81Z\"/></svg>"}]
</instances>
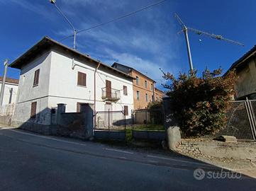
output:
<instances>
[{"instance_id":1,"label":"gate pillar with pale rounded base, left of the large bush","mask_svg":"<svg viewBox=\"0 0 256 191\"><path fill-rule=\"evenodd\" d=\"M165 112L165 131L167 134L167 144L169 149L175 150L177 145L181 143L181 133L178 122L173 116L172 100L169 97L163 98Z\"/></svg>"}]
</instances>

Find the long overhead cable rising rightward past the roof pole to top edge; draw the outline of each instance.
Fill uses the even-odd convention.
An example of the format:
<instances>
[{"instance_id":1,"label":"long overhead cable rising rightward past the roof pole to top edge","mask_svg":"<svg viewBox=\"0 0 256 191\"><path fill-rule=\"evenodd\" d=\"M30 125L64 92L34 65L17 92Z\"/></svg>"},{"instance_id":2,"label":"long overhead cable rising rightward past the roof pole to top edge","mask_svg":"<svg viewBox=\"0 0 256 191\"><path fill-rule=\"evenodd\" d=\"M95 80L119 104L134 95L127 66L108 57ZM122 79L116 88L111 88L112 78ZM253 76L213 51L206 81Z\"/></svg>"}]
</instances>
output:
<instances>
[{"instance_id":1,"label":"long overhead cable rising rightward past the roof pole to top edge","mask_svg":"<svg viewBox=\"0 0 256 191\"><path fill-rule=\"evenodd\" d=\"M106 24L108 24L108 23L113 23L113 22L115 22L115 21L121 20L121 19L126 18L126 17L128 17L128 16L132 16L132 15L135 14L135 13L138 13L138 12L140 12L140 11L144 11L145 9L151 8L152 6L157 6L157 5L159 5L159 4L164 3L165 1L168 1L168 0L157 1L157 2L155 2L154 4L150 4L150 5L148 5L148 6L145 6L145 7L143 7L143 8L138 9L137 11L133 11L133 12L127 13L126 15L123 15L123 16L118 16L118 17L113 18L113 19L111 19L111 20L109 20L109 21L106 21L106 22L104 22L104 23L100 23L100 24L97 24L97 25L93 25L93 26L91 26L91 27L89 27L89 28L86 28L86 29L78 30L78 31L77 31L77 34L78 34L78 33L85 32L85 31L87 31L87 30L91 30L91 29L93 29L93 28L98 28L98 27L100 27L100 26L102 26L102 25L106 25ZM67 37L64 37L64 38L62 38L62 39L60 40L60 42L61 42L62 40L66 40L67 38L72 37L72 36L74 36L74 35L69 35L69 36L67 36Z\"/></svg>"}]
</instances>

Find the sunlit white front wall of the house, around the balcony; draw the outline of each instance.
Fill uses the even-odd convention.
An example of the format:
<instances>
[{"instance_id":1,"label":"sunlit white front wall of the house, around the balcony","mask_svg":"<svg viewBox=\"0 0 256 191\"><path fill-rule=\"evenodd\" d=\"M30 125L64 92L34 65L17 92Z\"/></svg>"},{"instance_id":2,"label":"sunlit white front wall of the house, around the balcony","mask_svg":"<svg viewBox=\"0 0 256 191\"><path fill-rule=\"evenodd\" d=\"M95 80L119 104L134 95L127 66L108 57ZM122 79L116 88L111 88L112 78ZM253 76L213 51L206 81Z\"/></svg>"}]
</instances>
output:
<instances>
[{"instance_id":1,"label":"sunlit white front wall of the house, around the balcony","mask_svg":"<svg viewBox=\"0 0 256 191\"><path fill-rule=\"evenodd\" d=\"M55 107L57 103L67 104L67 112L76 112L77 103L94 104L94 71L96 64L88 62L82 63L74 60L72 69L72 58L66 57L57 52L52 52L52 64L50 67L50 88L49 105ZM77 86L78 71L87 74L87 86ZM111 88L120 90L121 99L112 104L112 110L123 110L127 105L133 110L133 82L121 78L119 75L109 74L101 71L96 72L96 111L104 111L105 104L102 100L102 88L106 87L106 80L111 81ZM123 86L127 86L128 96L123 95Z\"/></svg>"}]
</instances>

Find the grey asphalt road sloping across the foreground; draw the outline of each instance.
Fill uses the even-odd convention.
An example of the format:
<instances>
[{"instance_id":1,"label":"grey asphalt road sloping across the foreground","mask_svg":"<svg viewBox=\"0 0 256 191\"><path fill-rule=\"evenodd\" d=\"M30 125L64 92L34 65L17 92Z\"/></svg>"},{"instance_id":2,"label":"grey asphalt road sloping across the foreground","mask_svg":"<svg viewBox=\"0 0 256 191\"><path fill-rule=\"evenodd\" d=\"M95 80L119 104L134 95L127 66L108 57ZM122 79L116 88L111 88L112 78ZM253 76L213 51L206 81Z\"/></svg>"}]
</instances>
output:
<instances>
[{"instance_id":1,"label":"grey asphalt road sloping across the foreground","mask_svg":"<svg viewBox=\"0 0 256 191\"><path fill-rule=\"evenodd\" d=\"M196 168L203 180L194 178ZM0 190L256 190L245 175L207 176L217 171L179 156L0 129Z\"/></svg>"}]
</instances>

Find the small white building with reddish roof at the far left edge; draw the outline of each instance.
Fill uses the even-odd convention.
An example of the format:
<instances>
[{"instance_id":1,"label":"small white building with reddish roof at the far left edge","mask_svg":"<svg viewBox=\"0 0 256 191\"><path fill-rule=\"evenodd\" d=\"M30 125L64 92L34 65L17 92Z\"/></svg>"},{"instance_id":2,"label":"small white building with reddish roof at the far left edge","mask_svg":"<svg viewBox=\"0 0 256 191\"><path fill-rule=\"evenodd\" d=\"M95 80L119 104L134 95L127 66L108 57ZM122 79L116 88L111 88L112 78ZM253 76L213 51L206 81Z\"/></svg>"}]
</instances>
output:
<instances>
[{"instance_id":1,"label":"small white building with reddish roof at the far left edge","mask_svg":"<svg viewBox=\"0 0 256 191\"><path fill-rule=\"evenodd\" d=\"M0 89L2 86L3 77L0 76ZM3 105L16 103L16 97L18 93L18 79L6 78L4 86L4 100Z\"/></svg>"}]
</instances>

